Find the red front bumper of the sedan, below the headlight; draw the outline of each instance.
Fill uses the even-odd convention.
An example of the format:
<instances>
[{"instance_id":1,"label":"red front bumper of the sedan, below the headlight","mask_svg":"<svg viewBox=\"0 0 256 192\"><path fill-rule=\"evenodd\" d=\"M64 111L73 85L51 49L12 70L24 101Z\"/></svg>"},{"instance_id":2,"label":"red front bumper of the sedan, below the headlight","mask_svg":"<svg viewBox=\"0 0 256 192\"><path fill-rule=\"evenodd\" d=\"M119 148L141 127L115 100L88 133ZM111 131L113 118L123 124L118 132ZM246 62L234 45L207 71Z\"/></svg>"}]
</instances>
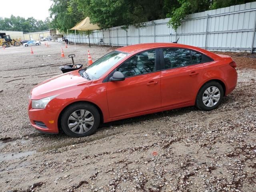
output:
<instances>
[{"instance_id":1,"label":"red front bumper of the sedan, below the headlight","mask_svg":"<svg viewBox=\"0 0 256 192\"><path fill-rule=\"evenodd\" d=\"M33 109L31 102L28 106L28 117L31 125L40 132L57 134L58 112L50 109ZM42 124L43 123L43 124Z\"/></svg>"}]
</instances>

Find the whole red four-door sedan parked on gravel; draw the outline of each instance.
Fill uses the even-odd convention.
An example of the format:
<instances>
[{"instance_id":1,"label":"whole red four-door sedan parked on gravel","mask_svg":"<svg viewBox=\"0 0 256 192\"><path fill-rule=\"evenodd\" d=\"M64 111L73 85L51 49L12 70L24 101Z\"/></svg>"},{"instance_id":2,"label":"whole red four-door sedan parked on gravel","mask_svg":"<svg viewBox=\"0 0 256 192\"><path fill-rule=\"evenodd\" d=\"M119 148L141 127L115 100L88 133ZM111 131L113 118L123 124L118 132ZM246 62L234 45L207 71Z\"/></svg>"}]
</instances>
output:
<instances>
[{"instance_id":1,"label":"whole red four-door sedan parked on gravel","mask_svg":"<svg viewBox=\"0 0 256 192\"><path fill-rule=\"evenodd\" d=\"M175 43L118 48L38 84L28 114L41 132L83 137L110 122L186 106L217 108L236 87L231 57Z\"/></svg>"}]
</instances>

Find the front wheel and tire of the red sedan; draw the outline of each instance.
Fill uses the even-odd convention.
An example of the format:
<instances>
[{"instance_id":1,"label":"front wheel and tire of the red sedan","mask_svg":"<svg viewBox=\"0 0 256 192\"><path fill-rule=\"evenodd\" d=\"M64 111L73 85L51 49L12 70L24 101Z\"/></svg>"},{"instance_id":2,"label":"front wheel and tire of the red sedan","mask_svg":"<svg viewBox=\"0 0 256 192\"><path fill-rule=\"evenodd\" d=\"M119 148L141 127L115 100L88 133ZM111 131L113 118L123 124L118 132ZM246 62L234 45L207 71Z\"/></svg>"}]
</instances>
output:
<instances>
[{"instance_id":1,"label":"front wheel and tire of the red sedan","mask_svg":"<svg viewBox=\"0 0 256 192\"><path fill-rule=\"evenodd\" d=\"M62 130L70 137L89 136L96 132L100 124L100 114L98 109L91 104L76 103L64 110L60 124Z\"/></svg>"}]
</instances>

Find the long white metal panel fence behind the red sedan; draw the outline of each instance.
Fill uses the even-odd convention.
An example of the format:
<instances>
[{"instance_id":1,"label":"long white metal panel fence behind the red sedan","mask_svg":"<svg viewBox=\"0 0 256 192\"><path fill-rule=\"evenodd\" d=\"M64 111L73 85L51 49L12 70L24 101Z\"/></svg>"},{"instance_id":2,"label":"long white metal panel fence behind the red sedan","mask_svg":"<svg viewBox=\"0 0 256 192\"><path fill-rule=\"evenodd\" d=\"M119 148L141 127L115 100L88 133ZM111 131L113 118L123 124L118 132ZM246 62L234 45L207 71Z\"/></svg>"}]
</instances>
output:
<instances>
[{"instance_id":1,"label":"long white metal panel fence behind the red sedan","mask_svg":"<svg viewBox=\"0 0 256 192\"><path fill-rule=\"evenodd\" d=\"M190 14L175 32L168 28L170 18L146 22L145 27L94 30L91 44L126 46L151 42L174 42L210 51L256 52L256 2ZM70 42L89 43L88 35L67 35Z\"/></svg>"}]
</instances>

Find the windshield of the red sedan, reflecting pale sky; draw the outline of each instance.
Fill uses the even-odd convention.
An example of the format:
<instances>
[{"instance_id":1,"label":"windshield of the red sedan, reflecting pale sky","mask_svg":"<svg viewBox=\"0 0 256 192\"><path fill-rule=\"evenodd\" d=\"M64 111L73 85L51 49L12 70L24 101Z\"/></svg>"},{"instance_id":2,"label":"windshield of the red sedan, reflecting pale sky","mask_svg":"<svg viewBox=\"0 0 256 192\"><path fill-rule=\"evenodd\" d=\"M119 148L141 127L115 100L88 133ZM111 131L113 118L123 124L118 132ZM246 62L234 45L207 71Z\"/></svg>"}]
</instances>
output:
<instances>
[{"instance_id":1,"label":"windshield of the red sedan, reflecting pale sky","mask_svg":"<svg viewBox=\"0 0 256 192\"><path fill-rule=\"evenodd\" d=\"M117 62L122 60L128 54L120 51L112 51L102 58L98 59L89 67L80 70L80 75L89 80L94 80L100 78L104 73L106 73L112 66Z\"/></svg>"}]
</instances>

